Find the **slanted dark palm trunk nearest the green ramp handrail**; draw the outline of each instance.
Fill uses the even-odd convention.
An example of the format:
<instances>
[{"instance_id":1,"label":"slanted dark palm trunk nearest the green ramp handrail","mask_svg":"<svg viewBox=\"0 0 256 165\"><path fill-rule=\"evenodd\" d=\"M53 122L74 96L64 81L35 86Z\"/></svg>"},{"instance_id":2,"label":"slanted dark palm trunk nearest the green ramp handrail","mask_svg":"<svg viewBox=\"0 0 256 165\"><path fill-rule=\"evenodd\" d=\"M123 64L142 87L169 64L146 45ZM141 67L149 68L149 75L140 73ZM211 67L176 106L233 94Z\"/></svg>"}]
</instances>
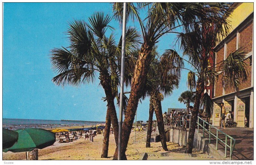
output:
<instances>
[{"instance_id":1,"label":"slanted dark palm trunk nearest the green ramp handrail","mask_svg":"<svg viewBox=\"0 0 256 165\"><path fill-rule=\"evenodd\" d=\"M195 104L194 104L194 109L192 111L191 124L189 128L189 133L188 133L188 143L185 151L185 153L187 154L192 154L193 141L194 141L194 135L196 130L197 114L200 108L200 100L202 97L203 90L204 90L203 83L200 82L200 79L198 79L196 84Z\"/></svg>"}]
</instances>

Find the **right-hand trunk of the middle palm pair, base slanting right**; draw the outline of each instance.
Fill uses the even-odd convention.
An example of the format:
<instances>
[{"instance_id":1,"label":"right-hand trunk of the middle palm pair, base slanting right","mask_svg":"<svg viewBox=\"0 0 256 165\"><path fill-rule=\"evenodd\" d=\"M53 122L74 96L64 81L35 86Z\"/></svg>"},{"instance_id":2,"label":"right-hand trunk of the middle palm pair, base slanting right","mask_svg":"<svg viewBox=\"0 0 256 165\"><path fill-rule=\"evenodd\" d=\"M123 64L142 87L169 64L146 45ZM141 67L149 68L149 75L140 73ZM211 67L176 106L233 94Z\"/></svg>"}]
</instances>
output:
<instances>
[{"instance_id":1,"label":"right-hand trunk of the middle palm pair, base slanting right","mask_svg":"<svg viewBox=\"0 0 256 165\"><path fill-rule=\"evenodd\" d=\"M164 131L164 119L163 119L163 114L162 114L162 106L161 106L161 101L157 97L157 93L154 93L153 99L154 99L154 101L153 101L154 109L156 112L157 126L158 126L158 131L160 134L160 140L162 143L162 147L165 151L168 151L168 148L166 145L166 136L165 136L165 131Z\"/></svg>"}]
</instances>

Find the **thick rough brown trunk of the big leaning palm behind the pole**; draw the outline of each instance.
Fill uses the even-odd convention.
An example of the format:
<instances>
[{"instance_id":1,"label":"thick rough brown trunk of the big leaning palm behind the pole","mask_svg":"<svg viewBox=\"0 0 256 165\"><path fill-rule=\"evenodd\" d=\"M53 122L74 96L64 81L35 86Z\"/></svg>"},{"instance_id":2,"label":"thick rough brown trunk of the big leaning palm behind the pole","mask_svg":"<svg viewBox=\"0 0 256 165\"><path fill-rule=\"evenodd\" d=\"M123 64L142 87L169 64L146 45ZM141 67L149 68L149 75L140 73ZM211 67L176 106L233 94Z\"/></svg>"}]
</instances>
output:
<instances>
[{"instance_id":1,"label":"thick rough brown trunk of the big leaning palm behind the pole","mask_svg":"<svg viewBox=\"0 0 256 165\"><path fill-rule=\"evenodd\" d=\"M143 89L146 84L148 66L150 64L150 53L152 51L153 45L148 45L147 42L144 42L140 49L140 54L134 68L132 84L131 84L131 93L129 101L127 104L125 118L122 128L122 146L121 146L121 156L122 160L125 160L125 151L130 138L132 123L134 120L135 112L138 107L138 101L142 95ZM117 160L118 148L114 154L113 160Z\"/></svg>"}]
</instances>

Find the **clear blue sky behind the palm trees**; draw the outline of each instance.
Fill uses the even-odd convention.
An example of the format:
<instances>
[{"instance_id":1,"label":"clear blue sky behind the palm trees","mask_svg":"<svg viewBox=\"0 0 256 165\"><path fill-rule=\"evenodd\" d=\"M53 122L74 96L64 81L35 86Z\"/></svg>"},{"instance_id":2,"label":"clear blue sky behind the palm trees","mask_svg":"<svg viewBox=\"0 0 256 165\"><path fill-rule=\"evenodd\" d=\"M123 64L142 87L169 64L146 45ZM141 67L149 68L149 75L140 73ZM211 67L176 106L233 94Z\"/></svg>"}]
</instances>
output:
<instances>
[{"instance_id":1,"label":"clear blue sky behind the palm trees","mask_svg":"<svg viewBox=\"0 0 256 165\"><path fill-rule=\"evenodd\" d=\"M113 16L109 3L4 3L3 118L105 120L107 103L101 99L105 93L97 77L93 84L78 87L62 88L51 81L57 73L52 69L50 50L69 45L65 35L68 22L87 21L95 11ZM119 39L120 24L113 19L110 25ZM140 30L137 23L129 25ZM160 38L158 52L178 50L175 38ZM188 89L187 73L182 71L179 89L164 98L163 112L186 107L178 97ZM148 109L146 98L138 105L137 120L148 120ZM118 107L116 110L119 114Z\"/></svg>"}]
</instances>

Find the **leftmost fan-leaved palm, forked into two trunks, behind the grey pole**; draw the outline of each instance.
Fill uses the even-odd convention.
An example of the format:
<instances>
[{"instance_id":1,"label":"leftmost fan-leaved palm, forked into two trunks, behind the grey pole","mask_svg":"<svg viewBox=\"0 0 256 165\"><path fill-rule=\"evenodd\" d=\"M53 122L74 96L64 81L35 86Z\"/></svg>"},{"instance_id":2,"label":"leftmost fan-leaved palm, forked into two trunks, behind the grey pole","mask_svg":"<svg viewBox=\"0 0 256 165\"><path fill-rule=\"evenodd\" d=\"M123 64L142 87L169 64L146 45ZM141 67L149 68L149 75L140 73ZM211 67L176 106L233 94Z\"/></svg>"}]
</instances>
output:
<instances>
[{"instance_id":1,"label":"leftmost fan-leaved palm, forked into two trunks, behind the grey pole","mask_svg":"<svg viewBox=\"0 0 256 165\"><path fill-rule=\"evenodd\" d=\"M99 73L100 85L103 87L108 102L106 127L103 140L101 157L108 156L108 140L110 123L112 122L116 145L118 142L118 120L114 98L118 95L119 64L121 57L121 39L118 44L113 34L106 37L110 16L97 12L89 18L89 24L84 21L75 20L69 24L68 38L70 46L67 48L52 49L52 65L59 72L52 81L57 85L79 85L93 82L95 72ZM138 33L133 28L126 32L127 47L129 54L138 44ZM121 37L122 38L122 37Z\"/></svg>"}]
</instances>

